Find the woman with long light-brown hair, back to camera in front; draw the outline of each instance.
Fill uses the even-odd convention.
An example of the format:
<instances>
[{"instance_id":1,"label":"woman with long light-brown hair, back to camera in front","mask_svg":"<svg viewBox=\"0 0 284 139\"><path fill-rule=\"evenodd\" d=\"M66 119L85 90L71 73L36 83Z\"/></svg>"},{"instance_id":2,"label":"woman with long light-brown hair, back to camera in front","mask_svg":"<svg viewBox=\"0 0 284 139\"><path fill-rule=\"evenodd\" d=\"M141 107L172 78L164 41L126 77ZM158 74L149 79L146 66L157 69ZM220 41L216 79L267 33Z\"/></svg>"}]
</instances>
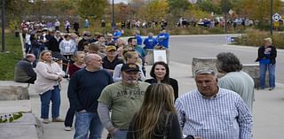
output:
<instances>
[{"instance_id":1,"label":"woman with long light-brown hair, back to camera in front","mask_svg":"<svg viewBox=\"0 0 284 139\"><path fill-rule=\"evenodd\" d=\"M143 104L130 122L127 139L182 138L173 91L165 83L152 84L146 89Z\"/></svg>"}]
</instances>

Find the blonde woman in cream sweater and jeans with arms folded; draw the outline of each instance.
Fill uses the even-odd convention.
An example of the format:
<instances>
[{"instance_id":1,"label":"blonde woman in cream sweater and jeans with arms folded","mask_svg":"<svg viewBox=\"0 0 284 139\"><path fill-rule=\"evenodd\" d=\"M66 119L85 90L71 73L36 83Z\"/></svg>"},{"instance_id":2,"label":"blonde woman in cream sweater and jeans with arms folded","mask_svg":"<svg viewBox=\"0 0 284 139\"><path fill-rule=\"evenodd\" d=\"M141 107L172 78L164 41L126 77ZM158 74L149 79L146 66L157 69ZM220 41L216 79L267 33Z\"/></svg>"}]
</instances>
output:
<instances>
[{"instance_id":1,"label":"blonde woman in cream sweater and jeans with arms folded","mask_svg":"<svg viewBox=\"0 0 284 139\"><path fill-rule=\"evenodd\" d=\"M60 107L60 88L59 82L62 81L64 72L58 63L52 61L51 51L43 50L40 54L39 62L36 65L36 93L41 98L41 118L47 124L49 120L49 107L52 102L52 121L63 122L59 119Z\"/></svg>"}]
</instances>

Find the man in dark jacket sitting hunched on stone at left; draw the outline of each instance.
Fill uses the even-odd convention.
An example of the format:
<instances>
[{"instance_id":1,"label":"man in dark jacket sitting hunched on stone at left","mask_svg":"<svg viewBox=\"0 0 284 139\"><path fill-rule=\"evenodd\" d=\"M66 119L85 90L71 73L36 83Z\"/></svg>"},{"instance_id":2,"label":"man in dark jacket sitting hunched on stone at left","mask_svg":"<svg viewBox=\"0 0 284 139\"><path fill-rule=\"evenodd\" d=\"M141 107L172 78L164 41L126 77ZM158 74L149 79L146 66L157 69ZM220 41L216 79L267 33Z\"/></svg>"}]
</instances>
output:
<instances>
[{"instance_id":1,"label":"man in dark jacket sitting hunched on stone at left","mask_svg":"<svg viewBox=\"0 0 284 139\"><path fill-rule=\"evenodd\" d=\"M36 56L28 54L26 58L21 59L15 66L14 81L35 83L36 72L33 69L32 63L35 62Z\"/></svg>"}]
</instances>

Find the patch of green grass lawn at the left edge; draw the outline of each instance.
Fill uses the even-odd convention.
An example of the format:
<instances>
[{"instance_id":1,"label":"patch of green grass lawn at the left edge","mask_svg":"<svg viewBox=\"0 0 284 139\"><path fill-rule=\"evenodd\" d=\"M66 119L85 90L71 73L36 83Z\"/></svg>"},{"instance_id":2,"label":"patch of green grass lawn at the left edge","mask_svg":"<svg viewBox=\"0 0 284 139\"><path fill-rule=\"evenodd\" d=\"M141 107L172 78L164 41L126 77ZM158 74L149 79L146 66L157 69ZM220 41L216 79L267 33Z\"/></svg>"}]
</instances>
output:
<instances>
[{"instance_id":1,"label":"patch of green grass lawn at the left edge","mask_svg":"<svg viewBox=\"0 0 284 139\"><path fill-rule=\"evenodd\" d=\"M20 37L14 37L13 33L5 33L5 50L8 52L2 52L2 39L0 44L0 81L13 81L14 66L23 57Z\"/></svg>"}]
</instances>

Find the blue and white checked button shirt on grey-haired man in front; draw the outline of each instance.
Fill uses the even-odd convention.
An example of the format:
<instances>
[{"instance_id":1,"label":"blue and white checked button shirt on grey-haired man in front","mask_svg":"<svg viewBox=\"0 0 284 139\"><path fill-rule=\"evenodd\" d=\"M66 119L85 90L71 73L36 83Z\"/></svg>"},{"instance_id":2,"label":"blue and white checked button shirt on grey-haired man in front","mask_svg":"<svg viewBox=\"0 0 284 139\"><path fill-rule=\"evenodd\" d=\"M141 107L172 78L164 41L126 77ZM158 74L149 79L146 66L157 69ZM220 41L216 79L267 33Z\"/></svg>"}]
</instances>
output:
<instances>
[{"instance_id":1,"label":"blue and white checked button shirt on grey-haired man in front","mask_svg":"<svg viewBox=\"0 0 284 139\"><path fill-rule=\"evenodd\" d=\"M241 97L228 89L219 89L210 99L198 90L177 98L178 120L185 135L202 139L250 139L252 116Z\"/></svg>"}]
</instances>

